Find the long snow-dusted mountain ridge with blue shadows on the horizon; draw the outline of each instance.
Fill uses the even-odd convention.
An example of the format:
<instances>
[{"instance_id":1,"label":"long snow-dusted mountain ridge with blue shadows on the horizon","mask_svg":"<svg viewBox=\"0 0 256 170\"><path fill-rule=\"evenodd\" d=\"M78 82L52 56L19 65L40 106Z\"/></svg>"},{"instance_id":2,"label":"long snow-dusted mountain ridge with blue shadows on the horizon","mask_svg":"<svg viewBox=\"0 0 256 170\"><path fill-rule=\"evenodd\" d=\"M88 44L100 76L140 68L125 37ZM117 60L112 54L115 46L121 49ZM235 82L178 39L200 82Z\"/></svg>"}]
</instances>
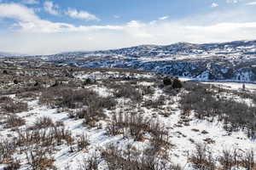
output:
<instances>
[{"instance_id":1,"label":"long snow-dusted mountain ridge with blue shadows on the horizon","mask_svg":"<svg viewBox=\"0 0 256 170\"><path fill-rule=\"evenodd\" d=\"M156 71L204 81L256 82L256 40L167 46L142 45L42 56L56 63Z\"/></svg>"}]
</instances>

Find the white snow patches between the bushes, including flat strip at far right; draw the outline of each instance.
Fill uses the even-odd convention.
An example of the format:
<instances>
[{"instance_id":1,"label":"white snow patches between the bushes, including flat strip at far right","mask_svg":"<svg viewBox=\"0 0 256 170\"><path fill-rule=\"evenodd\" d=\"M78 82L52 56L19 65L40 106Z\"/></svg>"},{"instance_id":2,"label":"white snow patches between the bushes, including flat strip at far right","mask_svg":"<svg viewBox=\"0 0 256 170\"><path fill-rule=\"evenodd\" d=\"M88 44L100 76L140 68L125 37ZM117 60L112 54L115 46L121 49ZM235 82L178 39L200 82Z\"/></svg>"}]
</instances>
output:
<instances>
[{"instance_id":1,"label":"white snow patches between the bushes, including flat strip at far right","mask_svg":"<svg viewBox=\"0 0 256 170\"><path fill-rule=\"evenodd\" d=\"M91 71L87 74L78 74L75 77L78 79L86 79L88 77L96 77L96 79L104 80L106 75L102 72ZM108 72L108 76L119 77L119 72ZM165 97L163 105L157 105L157 107L143 106L141 103L136 103L131 99L119 98L116 99L118 104L113 110L104 109L104 114L106 118L96 122L96 127L91 127L89 125L84 126L84 120L79 118L70 118L69 111L60 110L55 108L50 108L45 105L41 105L38 102L38 97L32 99L21 99L28 104L28 111L22 111L16 113L16 116L23 118L26 124L18 127L20 131L25 131L27 127L32 127L34 123L40 117L49 117L53 122L62 122L66 129L70 130L73 139L78 139L81 135L86 135L90 145L85 150L75 150L71 152L70 146L67 144L61 144L56 146L56 150L52 153L54 158L54 166L56 169L67 170L74 169L79 170L81 164L83 164L84 159L88 159L95 154L97 156L101 155L101 151L106 149L109 144L114 144L121 149L125 149L128 144L131 144L137 150L143 150L150 144L149 139L144 139L142 141L135 141L134 138L123 138L122 134L115 136L109 136L107 134L106 127L108 122L111 121L111 116L113 113L123 112L123 113L139 113L144 117L149 117L151 120L160 122L161 125L166 127L169 137L169 142L172 144L170 150L167 150L168 155L173 163L179 164L183 170L194 170L190 166L188 156L195 152L195 144L207 144L211 149L212 155L218 157L222 154L223 150L242 150L243 152L249 150L256 150L256 141L253 139L248 139L244 131L239 130L233 133L224 130L224 123L218 122L218 119L214 119L212 122L206 120L199 120L195 118L194 111L191 111L189 116L183 115L183 110L179 103L181 99L181 94L186 93L184 89L180 91L177 96L172 96L166 94L164 90L158 86L154 86L155 80L153 74L150 73L124 73L123 77L136 77L138 82L134 84L134 88L138 86L144 86L144 88L154 88L154 94L144 94L143 101L146 100L157 100L161 96ZM155 76L156 77L156 76ZM140 78L142 80L140 80ZM144 79L149 79L145 81ZM83 88L90 89L96 92L102 97L113 96L115 91L109 89L103 81L98 81L96 84L87 85ZM189 78L180 78L182 81L189 81ZM110 82L105 82L110 83ZM125 81L119 80L117 83L124 84ZM134 82L133 82L134 83ZM241 90L242 83L236 82L203 82L207 84L212 84L218 86L219 88L226 88L230 90ZM250 92L256 90L256 84L246 84L246 89ZM225 92L226 96L232 96ZM39 94L38 94L39 96ZM12 99L18 99L17 96L9 96ZM247 104L253 105L252 99L242 99L239 96L235 96L237 101L246 102ZM229 98L228 98L229 99ZM0 119L0 142L3 139L13 139L18 135L17 131L13 128L5 128L4 120L7 116L2 116ZM101 125L101 126L100 126ZM76 144L73 144L76 147ZM24 153L15 153L13 158L20 160L20 170L29 169L30 166L27 165L26 155ZM0 164L0 170L6 165ZM102 158L99 162L99 170L108 170L108 165L106 161Z\"/></svg>"}]
</instances>

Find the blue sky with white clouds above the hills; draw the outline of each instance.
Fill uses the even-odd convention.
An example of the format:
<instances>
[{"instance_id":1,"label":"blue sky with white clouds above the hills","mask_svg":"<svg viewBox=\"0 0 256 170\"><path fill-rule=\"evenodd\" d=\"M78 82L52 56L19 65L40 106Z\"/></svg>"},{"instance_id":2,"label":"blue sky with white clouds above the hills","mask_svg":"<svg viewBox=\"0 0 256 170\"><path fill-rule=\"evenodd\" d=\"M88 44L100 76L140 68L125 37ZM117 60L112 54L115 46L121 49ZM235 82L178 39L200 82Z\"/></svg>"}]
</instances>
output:
<instances>
[{"instance_id":1,"label":"blue sky with white clouds above the hills","mask_svg":"<svg viewBox=\"0 0 256 170\"><path fill-rule=\"evenodd\" d=\"M256 39L256 0L0 0L0 52Z\"/></svg>"}]
</instances>

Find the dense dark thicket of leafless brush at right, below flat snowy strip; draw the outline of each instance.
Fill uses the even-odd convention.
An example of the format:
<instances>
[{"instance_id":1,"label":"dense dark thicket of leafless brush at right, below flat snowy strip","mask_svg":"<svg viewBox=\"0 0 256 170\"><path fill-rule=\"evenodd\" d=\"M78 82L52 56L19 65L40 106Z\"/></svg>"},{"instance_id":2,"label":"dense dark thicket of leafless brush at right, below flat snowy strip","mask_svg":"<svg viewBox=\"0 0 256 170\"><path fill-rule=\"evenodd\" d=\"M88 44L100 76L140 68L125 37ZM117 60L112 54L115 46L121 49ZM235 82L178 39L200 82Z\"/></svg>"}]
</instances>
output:
<instances>
[{"instance_id":1,"label":"dense dark thicket of leafless brush at right, below flat snowy strip","mask_svg":"<svg viewBox=\"0 0 256 170\"><path fill-rule=\"evenodd\" d=\"M186 86L189 84L187 82ZM224 121L225 130L233 132L243 129L249 138L256 138L256 107L233 99L218 99L212 95L210 88L200 83L190 85L192 87L186 87L189 92L183 94L180 101L184 113L194 110L199 119L218 117L219 121Z\"/></svg>"}]
</instances>

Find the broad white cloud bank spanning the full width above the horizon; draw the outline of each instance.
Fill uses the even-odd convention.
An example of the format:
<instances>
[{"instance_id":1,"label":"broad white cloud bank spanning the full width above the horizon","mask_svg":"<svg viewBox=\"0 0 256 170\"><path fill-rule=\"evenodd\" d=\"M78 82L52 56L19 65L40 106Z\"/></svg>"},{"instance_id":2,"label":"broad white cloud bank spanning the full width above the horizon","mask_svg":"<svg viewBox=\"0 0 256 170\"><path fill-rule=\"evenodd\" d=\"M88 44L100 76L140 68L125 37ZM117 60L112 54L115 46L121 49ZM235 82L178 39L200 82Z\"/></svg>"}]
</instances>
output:
<instances>
[{"instance_id":1,"label":"broad white cloud bank spanning the full width above the horizon","mask_svg":"<svg viewBox=\"0 0 256 170\"><path fill-rule=\"evenodd\" d=\"M221 16L221 17L219 17ZM16 31L0 33L0 51L55 54L172 42L225 42L256 37L254 13L247 10L191 16L183 20L131 20L122 25L73 26L41 19L32 8L0 4L0 18L15 20Z\"/></svg>"}]
</instances>

